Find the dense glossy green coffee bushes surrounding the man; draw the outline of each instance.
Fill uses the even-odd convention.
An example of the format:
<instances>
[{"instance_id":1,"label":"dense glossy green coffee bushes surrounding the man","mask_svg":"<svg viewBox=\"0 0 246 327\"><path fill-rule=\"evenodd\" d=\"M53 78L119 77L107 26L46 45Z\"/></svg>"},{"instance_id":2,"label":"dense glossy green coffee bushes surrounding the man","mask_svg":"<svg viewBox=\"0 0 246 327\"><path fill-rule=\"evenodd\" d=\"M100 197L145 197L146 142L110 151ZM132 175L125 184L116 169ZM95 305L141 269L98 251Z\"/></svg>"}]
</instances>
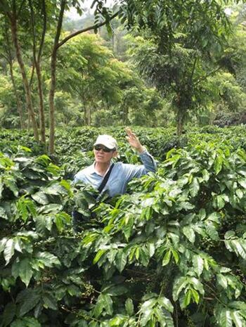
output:
<instances>
[{"instance_id":1,"label":"dense glossy green coffee bushes surrounding the man","mask_svg":"<svg viewBox=\"0 0 246 327\"><path fill-rule=\"evenodd\" d=\"M119 129L60 130L52 160L27 134L1 133L0 326L246 326L245 127L179 143L171 129L136 129L157 173L75 234L72 208L86 214L96 191L70 179L102 131L119 160L138 162Z\"/></svg>"}]
</instances>

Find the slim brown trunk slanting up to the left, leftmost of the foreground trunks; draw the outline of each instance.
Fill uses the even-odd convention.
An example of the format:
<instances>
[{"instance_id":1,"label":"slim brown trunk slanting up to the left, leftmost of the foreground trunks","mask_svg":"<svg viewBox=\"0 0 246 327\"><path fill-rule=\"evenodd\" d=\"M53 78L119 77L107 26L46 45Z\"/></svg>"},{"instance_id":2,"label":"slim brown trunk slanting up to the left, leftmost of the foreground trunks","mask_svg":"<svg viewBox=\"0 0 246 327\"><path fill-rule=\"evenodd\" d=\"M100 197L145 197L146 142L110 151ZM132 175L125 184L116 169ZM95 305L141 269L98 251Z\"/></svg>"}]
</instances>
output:
<instances>
[{"instance_id":1,"label":"slim brown trunk slanting up to the left, leftmost of the foreground trunks","mask_svg":"<svg viewBox=\"0 0 246 327\"><path fill-rule=\"evenodd\" d=\"M18 34L17 34L17 21L16 21L16 13L13 12L13 15L11 15L11 34L13 38L13 44L15 46L15 52L16 52L16 58L18 60L18 64L20 66L20 72L22 75L22 82L24 84L25 88L25 97L27 101L27 110L30 114L31 122L32 122L32 129L34 132L34 138L35 140L39 141L39 131L37 128L37 122L35 120L35 114L32 106L32 96L31 96L31 90L30 86L27 81L27 74L25 72L25 65L22 60L22 55L20 51L20 44L18 42Z\"/></svg>"}]
</instances>

